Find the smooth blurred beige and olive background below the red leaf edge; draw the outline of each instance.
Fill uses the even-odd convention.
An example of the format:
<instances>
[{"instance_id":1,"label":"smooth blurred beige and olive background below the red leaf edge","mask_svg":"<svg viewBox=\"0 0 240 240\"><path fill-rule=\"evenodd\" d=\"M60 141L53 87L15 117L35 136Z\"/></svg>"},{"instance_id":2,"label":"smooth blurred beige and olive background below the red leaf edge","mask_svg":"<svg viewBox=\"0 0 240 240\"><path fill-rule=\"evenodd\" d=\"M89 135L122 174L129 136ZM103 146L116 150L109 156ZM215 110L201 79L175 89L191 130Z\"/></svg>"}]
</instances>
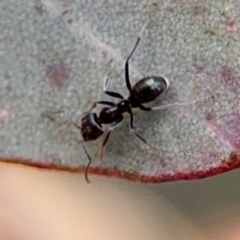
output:
<instances>
[{"instance_id":1,"label":"smooth blurred beige and olive background below the red leaf edge","mask_svg":"<svg viewBox=\"0 0 240 240\"><path fill-rule=\"evenodd\" d=\"M0 165L1 239L240 239L239 172L140 184Z\"/></svg>"}]
</instances>

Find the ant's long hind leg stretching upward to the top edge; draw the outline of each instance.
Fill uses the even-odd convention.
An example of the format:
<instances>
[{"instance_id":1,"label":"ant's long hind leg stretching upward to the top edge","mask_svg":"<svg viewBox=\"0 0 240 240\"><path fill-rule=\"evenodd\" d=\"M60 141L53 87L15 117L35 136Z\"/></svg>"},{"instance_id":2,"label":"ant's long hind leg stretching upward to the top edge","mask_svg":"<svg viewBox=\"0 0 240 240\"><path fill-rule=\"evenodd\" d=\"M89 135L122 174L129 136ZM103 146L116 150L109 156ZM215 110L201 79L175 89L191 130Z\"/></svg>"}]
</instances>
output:
<instances>
[{"instance_id":1,"label":"ant's long hind leg stretching upward to the top edge","mask_svg":"<svg viewBox=\"0 0 240 240\"><path fill-rule=\"evenodd\" d=\"M149 15L146 23L143 25L143 27L142 27L142 29L139 33L139 36L138 36L137 41L135 42L135 44L133 46L132 51L130 52L129 56L127 57L127 60L125 61L125 81L126 81L127 89L129 90L129 92L131 92L131 89L132 89L130 79L129 79L129 60L132 57L135 50L137 49L137 46L138 46L138 44L140 42L140 39L141 39L141 35L142 35L143 31L145 30L145 28L147 27L147 25L149 24L149 22L152 18L152 15L155 12L156 8L157 8L157 4L155 3L155 4L153 4L153 9L151 10L150 15Z\"/></svg>"}]
</instances>

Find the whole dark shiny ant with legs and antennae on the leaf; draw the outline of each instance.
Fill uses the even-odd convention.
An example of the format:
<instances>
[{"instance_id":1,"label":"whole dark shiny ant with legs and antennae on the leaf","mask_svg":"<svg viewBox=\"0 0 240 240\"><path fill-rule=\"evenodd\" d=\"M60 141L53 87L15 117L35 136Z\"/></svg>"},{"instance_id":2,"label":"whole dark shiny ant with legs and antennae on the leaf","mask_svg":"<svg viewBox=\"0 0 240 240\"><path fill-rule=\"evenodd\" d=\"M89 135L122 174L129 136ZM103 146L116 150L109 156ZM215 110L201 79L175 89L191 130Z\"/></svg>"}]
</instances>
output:
<instances>
[{"instance_id":1,"label":"whole dark shiny ant with legs and antennae on the leaf","mask_svg":"<svg viewBox=\"0 0 240 240\"><path fill-rule=\"evenodd\" d=\"M145 78L141 79L132 87L131 83L130 83L130 78L129 78L129 60L131 59L132 55L136 51L136 49L139 45L139 42L140 42L140 37L142 35L142 32L144 31L144 29L147 27L149 21L151 20L151 17L153 15L153 12L155 11L155 9L156 9L156 4L153 4L153 10L151 11L151 14L150 14L147 22L142 27L142 30L140 31L140 34L134 44L134 47L125 61L125 82L126 82L127 89L129 91L128 97L124 98L118 92L113 92L113 91L107 90L108 77L111 73L111 72L109 72L109 74L107 75L107 78L104 82L103 91L108 96L120 99L120 102L114 103L114 102L110 102L110 101L95 101L93 103L91 109L84 114L83 118L81 119L80 126L75 124L71 120L71 117L68 114L68 112L65 111L67 113L68 118L70 119L71 123L80 130L82 138L83 138L82 146L83 146L84 152L87 155L88 160L89 160L88 165L85 170L85 179L86 179L87 183L90 183L90 181L88 179L88 170L91 165L92 159L85 148L84 142L93 141L93 140L98 139L104 133L102 124L111 124L107 131L106 137L102 143L102 147L101 147L101 158L102 158L103 149L109 140L111 132L115 128L117 128L123 120L123 113L128 113L130 115L130 130L131 130L131 132L134 133L134 135L138 139L140 139L143 143L145 143L149 147L155 149L150 144L148 144L147 141L134 130L132 108L140 108L140 110L143 110L143 111L151 111L151 110L161 109L162 106L150 108L150 107L145 107L143 104L155 100L161 94L166 92L166 90L168 89L168 86L169 86L169 82L166 78L161 77L161 76L150 76L150 77L145 77ZM106 106L100 111L99 115L97 115L95 112L92 112L92 110L98 104ZM64 111L59 111L58 113L60 113L60 112L64 112Z\"/></svg>"}]
</instances>

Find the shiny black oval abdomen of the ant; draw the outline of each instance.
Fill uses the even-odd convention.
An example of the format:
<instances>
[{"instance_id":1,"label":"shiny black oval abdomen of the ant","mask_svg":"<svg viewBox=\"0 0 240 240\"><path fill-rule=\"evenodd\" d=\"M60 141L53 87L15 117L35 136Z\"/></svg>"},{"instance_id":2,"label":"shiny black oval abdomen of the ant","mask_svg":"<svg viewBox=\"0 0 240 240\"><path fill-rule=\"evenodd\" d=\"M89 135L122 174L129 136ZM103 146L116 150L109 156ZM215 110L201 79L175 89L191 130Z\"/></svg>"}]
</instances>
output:
<instances>
[{"instance_id":1,"label":"shiny black oval abdomen of the ant","mask_svg":"<svg viewBox=\"0 0 240 240\"><path fill-rule=\"evenodd\" d=\"M150 76L138 81L131 89L131 102L136 105L148 103L158 98L169 86L166 78ZM133 107L135 107L133 105Z\"/></svg>"}]
</instances>

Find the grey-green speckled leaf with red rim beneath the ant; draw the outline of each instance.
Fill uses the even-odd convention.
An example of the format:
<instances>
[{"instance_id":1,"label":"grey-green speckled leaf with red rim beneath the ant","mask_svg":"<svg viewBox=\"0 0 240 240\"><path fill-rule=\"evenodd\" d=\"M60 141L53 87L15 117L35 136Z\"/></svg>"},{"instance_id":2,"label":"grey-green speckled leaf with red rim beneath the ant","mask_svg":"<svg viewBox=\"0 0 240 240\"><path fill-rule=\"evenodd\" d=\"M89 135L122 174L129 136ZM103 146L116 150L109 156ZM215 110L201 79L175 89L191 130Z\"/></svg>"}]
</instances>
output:
<instances>
[{"instance_id":1,"label":"grey-green speckled leaf with red rim beneath the ant","mask_svg":"<svg viewBox=\"0 0 240 240\"><path fill-rule=\"evenodd\" d=\"M128 115L113 131L102 160L103 137L87 142L93 159L89 173L157 183L238 168L240 2L157 3L130 61L131 83L165 76L170 87L150 106L180 104L161 111L134 110L137 132L157 151L130 132ZM124 61L151 4L0 1L1 161L84 171L88 160L79 130L65 114L46 113L67 110L80 124L94 101L115 101L102 88L112 65L109 90L128 95ZM192 103L197 99L205 101Z\"/></svg>"}]
</instances>

